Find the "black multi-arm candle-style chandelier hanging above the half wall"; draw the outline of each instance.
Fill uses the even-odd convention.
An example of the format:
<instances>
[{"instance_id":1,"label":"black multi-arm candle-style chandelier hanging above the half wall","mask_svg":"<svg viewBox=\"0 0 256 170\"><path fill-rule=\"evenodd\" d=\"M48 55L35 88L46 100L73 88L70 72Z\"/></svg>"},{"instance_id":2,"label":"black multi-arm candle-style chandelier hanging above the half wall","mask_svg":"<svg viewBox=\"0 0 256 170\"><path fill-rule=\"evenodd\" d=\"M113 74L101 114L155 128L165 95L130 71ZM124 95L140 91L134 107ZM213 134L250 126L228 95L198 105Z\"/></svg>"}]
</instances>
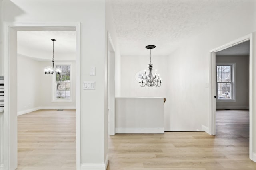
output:
<instances>
[{"instance_id":1,"label":"black multi-arm candle-style chandelier hanging above the half wall","mask_svg":"<svg viewBox=\"0 0 256 170\"><path fill-rule=\"evenodd\" d=\"M140 78L140 87L160 87L162 80L160 78L160 74L157 75L157 72L153 75L152 70L153 70L153 64L151 64L151 49L154 49L156 46L155 45L147 45L146 48L150 49L150 64L148 64L148 74L146 73L146 70L144 70L144 74L142 74L142 77Z\"/></svg>"}]
</instances>

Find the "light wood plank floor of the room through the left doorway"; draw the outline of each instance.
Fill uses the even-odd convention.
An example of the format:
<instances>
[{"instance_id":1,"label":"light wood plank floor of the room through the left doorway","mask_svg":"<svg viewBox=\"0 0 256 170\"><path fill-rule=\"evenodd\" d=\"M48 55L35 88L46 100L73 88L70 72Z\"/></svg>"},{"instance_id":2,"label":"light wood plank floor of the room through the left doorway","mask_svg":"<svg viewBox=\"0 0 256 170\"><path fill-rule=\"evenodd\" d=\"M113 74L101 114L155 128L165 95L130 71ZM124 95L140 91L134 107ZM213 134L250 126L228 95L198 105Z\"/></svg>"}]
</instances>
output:
<instances>
[{"instance_id":1,"label":"light wood plank floor of the room through the left doorway","mask_svg":"<svg viewBox=\"0 0 256 170\"><path fill-rule=\"evenodd\" d=\"M18 116L17 170L75 169L75 110L38 110Z\"/></svg>"}]
</instances>

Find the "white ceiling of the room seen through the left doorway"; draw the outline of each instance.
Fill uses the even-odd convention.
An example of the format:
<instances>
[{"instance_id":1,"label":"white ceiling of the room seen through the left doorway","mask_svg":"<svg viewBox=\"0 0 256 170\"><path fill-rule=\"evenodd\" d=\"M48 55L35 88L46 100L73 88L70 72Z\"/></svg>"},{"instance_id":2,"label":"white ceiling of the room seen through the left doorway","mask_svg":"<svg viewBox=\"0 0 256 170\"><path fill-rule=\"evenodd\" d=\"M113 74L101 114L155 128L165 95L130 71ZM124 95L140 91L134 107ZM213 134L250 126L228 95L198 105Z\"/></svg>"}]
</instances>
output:
<instances>
[{"instance_id":1,"label":"white ceiling of the room seen through the left doorway","mask_svg":"<svg viewBox=\"0 0 256 170\"><path fill-rule=\"evenodd\" d=\"M18 31L18 54L37 60L75 60L76 31Z\"/></svg>"}]
</instances>

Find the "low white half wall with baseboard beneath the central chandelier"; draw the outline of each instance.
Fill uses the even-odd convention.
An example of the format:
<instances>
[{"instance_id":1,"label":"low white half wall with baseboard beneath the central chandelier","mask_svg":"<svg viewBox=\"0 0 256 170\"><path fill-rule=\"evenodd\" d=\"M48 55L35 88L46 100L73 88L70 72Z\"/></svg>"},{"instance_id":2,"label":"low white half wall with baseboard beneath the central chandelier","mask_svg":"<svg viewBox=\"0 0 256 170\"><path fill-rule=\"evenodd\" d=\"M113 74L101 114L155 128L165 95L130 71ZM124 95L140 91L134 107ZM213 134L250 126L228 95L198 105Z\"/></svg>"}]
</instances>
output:
<instances>
[{"instance_id":1,"label":"low white half wall with baseboard beneath the central chandelier","mask_svg":"<svg viewBox=\"0 0 256 170\"><path fill-rule=\"evenodd\" d=\"M164 133L164 98L116 98L116 133Z\"/></svg>"}]
</instances>

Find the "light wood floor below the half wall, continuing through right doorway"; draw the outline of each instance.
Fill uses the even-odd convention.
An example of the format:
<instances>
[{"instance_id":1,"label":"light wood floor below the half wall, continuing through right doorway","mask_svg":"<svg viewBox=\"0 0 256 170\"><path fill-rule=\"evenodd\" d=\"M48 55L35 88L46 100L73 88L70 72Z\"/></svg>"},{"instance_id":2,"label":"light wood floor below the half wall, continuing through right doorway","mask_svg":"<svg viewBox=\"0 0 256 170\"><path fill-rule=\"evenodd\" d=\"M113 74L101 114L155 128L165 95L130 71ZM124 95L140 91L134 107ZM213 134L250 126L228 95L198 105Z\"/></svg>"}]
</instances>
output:
<instances>
[{"instance_id":1,"label":"light wood floor below the half wall, continuing through right doorway","mask_svg":"<svg viewBox=\"0 0 256 170\"><path fill-rule=\"evenodd\" d=\"M249 159L247 110L217 111L216 136L205 132L116 134L108 170L256 170Z\"/></svg>"}]
</instances>

